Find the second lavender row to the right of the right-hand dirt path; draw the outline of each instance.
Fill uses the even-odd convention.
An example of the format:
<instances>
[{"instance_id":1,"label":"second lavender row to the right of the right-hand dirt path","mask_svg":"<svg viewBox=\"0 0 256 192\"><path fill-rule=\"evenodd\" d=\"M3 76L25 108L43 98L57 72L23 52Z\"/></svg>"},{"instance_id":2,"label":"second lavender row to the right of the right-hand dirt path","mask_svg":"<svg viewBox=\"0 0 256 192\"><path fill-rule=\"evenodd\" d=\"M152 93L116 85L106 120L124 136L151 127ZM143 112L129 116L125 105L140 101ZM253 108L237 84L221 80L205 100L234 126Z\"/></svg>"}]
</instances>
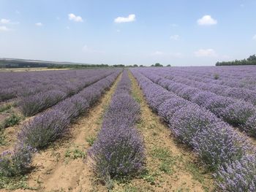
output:
<instances>
[{"instance_id":1,"label":"second lavender row to the right of the right-hand dirt path","mask_svg":"<svg viewBox=\"0 0 256 192\"><path fill-rule=\"evenodd\" d=\"M256 108L254 105L245 101L218 96L215 93L201 91L189 85L167 80L157 74L142 73L168 91L176 93L178 96L195 104L206 107L217 117L222 118L233 126L241 128L241 130L246 131L252 137L256 137Z\"/></svg>"}]
</instances>

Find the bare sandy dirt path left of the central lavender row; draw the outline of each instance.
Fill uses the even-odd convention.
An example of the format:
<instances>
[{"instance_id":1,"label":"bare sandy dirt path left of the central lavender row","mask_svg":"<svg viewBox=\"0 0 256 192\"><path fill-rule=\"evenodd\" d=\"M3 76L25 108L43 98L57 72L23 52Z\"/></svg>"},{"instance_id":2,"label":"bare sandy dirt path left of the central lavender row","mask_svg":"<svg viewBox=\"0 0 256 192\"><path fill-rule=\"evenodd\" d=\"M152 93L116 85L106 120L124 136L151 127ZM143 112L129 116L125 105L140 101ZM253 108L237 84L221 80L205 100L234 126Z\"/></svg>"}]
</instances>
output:
<instances>
[{"instance_id":1,"label":"bare sandy dirt path left of the central lavender row","mask_svg":"<svg viewBox=\"0 0 256 192\"><path fill-rule=\"evenodd\" d=\"M80 117L71 127L69 138L61 139L48 150L37 153L29 186L37 191L94 191L94 176L84 158L90 143L97 137L102 115L110 102L117 82L107 91L89 114Z\"/></svg>"}]
</instances>

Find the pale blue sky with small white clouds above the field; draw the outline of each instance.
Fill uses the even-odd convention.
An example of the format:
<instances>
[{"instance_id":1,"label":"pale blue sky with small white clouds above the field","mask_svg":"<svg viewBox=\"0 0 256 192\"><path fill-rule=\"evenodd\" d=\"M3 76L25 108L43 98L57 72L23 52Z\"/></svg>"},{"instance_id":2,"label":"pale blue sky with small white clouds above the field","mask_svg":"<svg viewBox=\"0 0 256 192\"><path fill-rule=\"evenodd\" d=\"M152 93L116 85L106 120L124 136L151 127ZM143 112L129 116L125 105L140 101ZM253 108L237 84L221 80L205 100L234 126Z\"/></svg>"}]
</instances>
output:
<instances>
[{"instance_id":1,"label":"pale blue sky with small white clouds above the field","mask_svg":"<svg viewBox=\"0 0 256 192\"><path fill-rule=\"evenodd\" d=\"M256 0L0 0L0 58L212 66L256 53Z\"/></svg>"}]
</instances>

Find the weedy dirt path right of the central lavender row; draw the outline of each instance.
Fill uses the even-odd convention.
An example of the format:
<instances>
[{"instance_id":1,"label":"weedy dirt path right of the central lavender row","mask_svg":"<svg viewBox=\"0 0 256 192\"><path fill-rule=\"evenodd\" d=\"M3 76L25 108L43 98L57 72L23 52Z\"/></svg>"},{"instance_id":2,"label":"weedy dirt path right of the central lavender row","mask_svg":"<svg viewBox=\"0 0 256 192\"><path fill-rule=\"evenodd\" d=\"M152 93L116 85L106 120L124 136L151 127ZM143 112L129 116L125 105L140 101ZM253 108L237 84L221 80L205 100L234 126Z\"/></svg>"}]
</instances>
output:
<instances>
[{"instance_id":1,"label":"weedy dirt path right of the central lavender row","mask_svg":"<svg viewBox=\"0 0 256 192\"><path fill-rule=\"evenodd\" d=\"M175 142L170 130L150 110L132 74L132 94L140 103L137 127L146 145L147 171L138 179L116 185L114 191L211 191L211 174L203 174L195 156Z\"/></svg>"}]
</instances>

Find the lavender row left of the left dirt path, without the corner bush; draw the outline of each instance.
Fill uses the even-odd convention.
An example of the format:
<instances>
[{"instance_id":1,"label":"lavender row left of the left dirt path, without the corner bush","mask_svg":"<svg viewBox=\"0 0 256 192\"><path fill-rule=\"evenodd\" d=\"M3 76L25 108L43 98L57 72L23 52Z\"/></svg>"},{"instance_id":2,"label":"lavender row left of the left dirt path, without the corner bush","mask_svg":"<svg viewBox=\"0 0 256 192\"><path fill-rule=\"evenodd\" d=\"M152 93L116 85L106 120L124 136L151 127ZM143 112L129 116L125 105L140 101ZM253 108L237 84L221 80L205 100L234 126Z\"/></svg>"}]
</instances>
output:
<instances>
[{"instance_id":1,"label":"lavender row left of the left dirt path, without the corner bush","mask_svg":"<svg viewBox=\"0 0 256 192\"><path fill-rule=\"evenodd\" d=\"M18 134L19 142L34 148L42 148L68 131L69 123L91 107L102 93L112 85L119 72L114 72L80 91L53 109L36 116L26 123Z\"/></svg>"}]
</instances>

